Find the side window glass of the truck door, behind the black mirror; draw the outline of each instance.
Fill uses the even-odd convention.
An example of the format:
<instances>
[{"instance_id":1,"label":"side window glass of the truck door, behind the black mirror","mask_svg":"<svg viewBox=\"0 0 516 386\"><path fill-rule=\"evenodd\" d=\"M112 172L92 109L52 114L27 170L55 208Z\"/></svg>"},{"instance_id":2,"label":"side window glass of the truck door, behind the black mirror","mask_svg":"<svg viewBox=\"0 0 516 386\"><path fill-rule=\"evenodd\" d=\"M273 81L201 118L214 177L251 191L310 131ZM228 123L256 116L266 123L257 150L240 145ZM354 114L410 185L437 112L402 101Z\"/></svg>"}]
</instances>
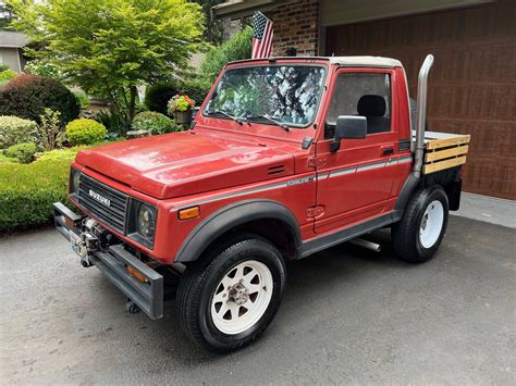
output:
<instances>
[{"instance_id":1,"label":"side window glass of the truck door, behind the black mirror","mask_svg":"<svg viewBox=\"0 0 516 386\"><path fill-rule=\"evenodd\" d=\"M389 74L347 73L335 80L324 138L333 138L339 115L367 119L367 134L391 130L391 77Z\"/></svg>"}]
</instances>

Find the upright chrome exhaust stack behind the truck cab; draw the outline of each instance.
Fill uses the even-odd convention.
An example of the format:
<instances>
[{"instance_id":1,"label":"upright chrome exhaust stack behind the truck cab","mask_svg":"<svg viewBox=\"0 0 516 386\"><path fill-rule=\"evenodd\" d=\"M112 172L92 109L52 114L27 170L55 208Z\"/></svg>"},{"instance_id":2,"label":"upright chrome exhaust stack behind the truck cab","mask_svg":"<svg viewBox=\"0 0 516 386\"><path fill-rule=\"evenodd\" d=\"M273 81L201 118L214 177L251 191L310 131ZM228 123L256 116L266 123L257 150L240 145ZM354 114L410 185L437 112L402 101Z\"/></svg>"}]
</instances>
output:
<instances>
[{"instance_id":1,"label":"upright chrome exhaust stack behind the truck cab","mask_svg":"<svg viewBox=\"0 0 516 386\"><path fill-rule=\"evenodd\" d=\"M427 88L428 74L433 65L433 55L429 54L422 62L419 70L418 85L417 85L417 125L416 125L416 146L415 146L415 162L414 175L419 178L421 176L422 159L425 153L425 123L427 122Z\"/></svg>"}]
</instances>

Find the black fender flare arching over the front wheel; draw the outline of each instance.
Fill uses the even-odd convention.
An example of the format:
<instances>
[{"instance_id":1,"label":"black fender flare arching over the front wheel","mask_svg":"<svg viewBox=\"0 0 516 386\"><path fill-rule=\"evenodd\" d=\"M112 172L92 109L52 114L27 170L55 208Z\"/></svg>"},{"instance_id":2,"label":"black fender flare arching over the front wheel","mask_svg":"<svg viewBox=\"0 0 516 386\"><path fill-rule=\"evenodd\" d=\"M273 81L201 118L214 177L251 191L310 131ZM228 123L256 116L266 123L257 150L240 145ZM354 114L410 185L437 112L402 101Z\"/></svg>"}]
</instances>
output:
<instances>
[{"instance_id":1,"label":"black fender flare arching over the front wheel","mask_svg":"<svg viewBox=\"0 0 516 386\"><path fill-rule=\"evenodd\" d=\"M197 260L224 233L255 220L279 220L285 223L296 248L300 246L299 225L285 206L271 200L245 200L219 209L198 224L183 241L174 261L184 263Z\"/></svg>"}]
</instances>

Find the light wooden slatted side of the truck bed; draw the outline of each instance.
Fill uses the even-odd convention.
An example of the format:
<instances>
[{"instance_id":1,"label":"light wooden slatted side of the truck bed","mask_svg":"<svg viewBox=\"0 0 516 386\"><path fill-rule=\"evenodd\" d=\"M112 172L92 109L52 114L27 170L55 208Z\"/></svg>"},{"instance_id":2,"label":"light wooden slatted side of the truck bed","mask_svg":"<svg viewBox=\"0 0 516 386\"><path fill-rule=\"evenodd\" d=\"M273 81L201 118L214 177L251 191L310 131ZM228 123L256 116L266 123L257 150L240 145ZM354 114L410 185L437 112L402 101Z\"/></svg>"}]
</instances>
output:
<instances>
[{"instance_id":1,"label":"light wooden slatted side of the truck bed","mask_svg":"<svg viewBox=\"0 0 516 386\"><path fill-rule=\"evenodd\" d=\"M414 139L415 135L413 132ZM430 174L466 163L469 138L467 134L426 132L422 173Z\"/></svg>"}]
</instances>

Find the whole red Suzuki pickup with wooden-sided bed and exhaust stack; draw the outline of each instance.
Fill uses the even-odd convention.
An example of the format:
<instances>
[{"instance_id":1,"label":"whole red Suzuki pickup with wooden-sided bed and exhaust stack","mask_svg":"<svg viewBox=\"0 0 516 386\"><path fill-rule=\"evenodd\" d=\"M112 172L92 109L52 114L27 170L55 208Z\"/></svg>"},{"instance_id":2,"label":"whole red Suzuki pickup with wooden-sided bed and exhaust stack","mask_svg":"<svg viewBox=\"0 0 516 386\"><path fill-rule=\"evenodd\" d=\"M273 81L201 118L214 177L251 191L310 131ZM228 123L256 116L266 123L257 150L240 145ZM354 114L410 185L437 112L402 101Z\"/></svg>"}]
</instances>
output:
<instances>
[{"instance_id":1,"label":"whole red Suzuki pickup with wooden-sided bed and exhaust stack","mask_svg":"<svg viewBox=\"0 0 516 386\"><path fill-rule=\"evenodd\" d=\"M175 310L198 345L228 352L271 323L285 261L391 227L396 254L432 258L457 210L469 136L426 133L404 69L376 57L228 64L192 128L81 151L56 226L130 312ZM413 130L414 125L414 130Z\"/></svg>"}]
</instances>

